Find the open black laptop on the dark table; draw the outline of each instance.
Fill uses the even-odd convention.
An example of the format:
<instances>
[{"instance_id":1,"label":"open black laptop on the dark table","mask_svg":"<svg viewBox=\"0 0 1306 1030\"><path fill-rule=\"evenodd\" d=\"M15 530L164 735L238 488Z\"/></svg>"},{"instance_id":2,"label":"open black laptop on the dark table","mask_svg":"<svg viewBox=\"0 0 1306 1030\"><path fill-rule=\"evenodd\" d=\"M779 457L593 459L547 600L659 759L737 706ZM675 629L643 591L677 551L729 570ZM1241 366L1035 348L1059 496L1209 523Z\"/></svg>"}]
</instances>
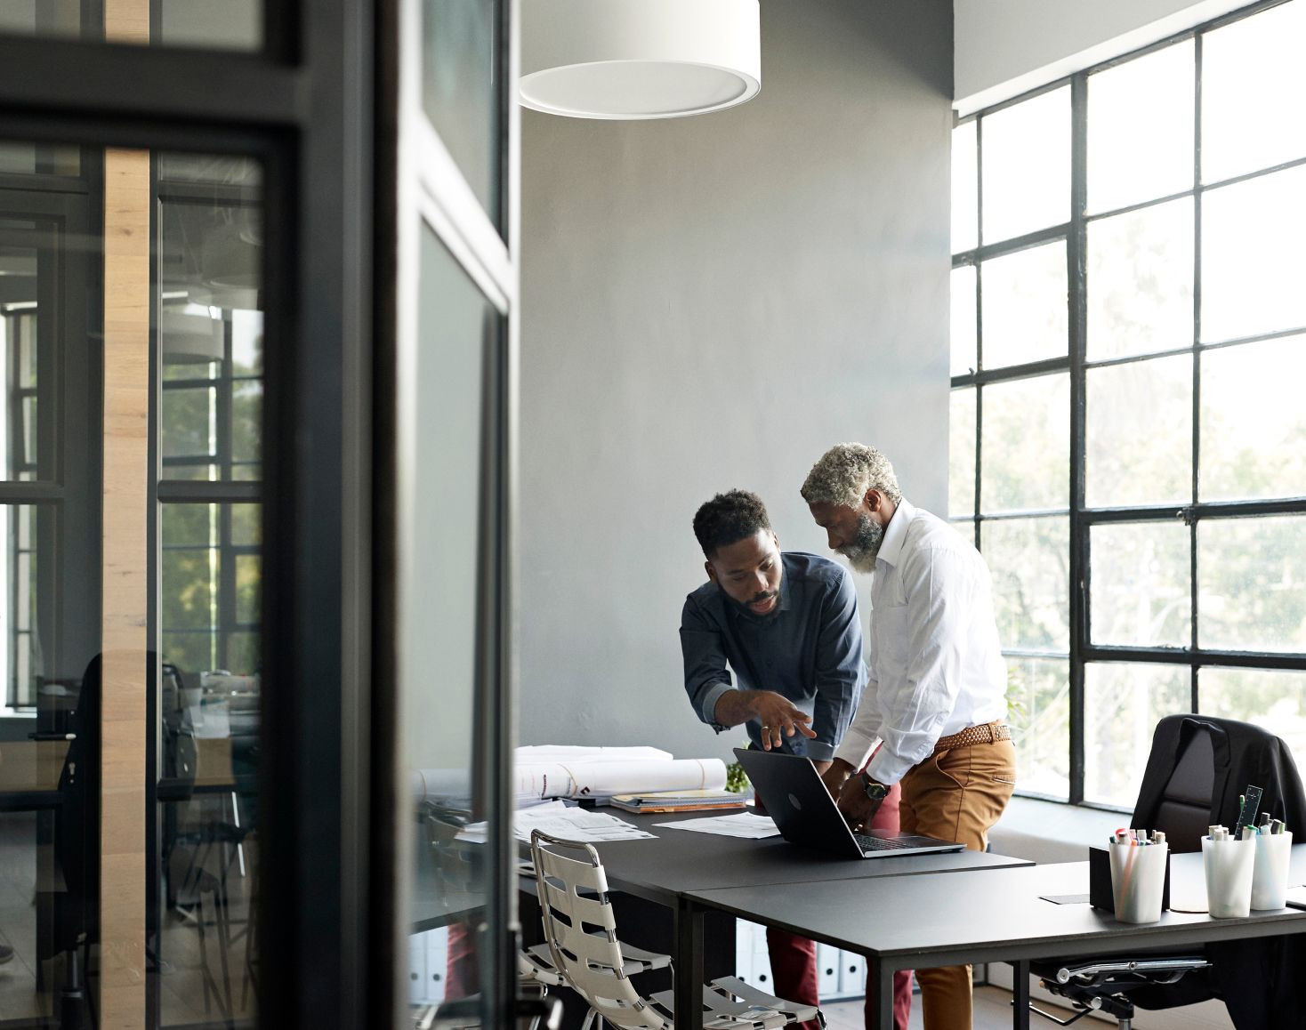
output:
<instances>
[{"instance_id":1,"label":"open black laptop on the dark table","mask_svg":"<svg viewBox=\"0 0 1306 1030\"><path fill-rule=\"evenodd\" d=\"M913 833L853 833L811 758L778 751L735 748L735 757L785 839L842 858L893 858L964 851L965 845Z\"/></svg>"}]
</instances>

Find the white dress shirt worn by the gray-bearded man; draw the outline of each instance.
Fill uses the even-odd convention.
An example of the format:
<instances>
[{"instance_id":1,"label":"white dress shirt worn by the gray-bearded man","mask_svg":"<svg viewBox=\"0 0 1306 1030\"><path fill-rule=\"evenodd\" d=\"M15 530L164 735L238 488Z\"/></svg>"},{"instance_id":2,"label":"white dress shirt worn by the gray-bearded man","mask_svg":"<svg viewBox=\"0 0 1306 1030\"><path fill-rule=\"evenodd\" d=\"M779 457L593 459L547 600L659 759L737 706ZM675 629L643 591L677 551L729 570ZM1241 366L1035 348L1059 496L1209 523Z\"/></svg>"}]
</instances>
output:
<instances>
[{"instance_id":1,"label":"white dress shirt worn by the gray-bearded man","mask_svg":"<svg viewBox=\"0 0 1306 1030\"><path fill-rule=\"evenodd\" d=\"M1004 721L989 567L969 540L902 499L871 580L870 681L835 757L896 783L940 736Z\"/></svg>"}]
</instances>

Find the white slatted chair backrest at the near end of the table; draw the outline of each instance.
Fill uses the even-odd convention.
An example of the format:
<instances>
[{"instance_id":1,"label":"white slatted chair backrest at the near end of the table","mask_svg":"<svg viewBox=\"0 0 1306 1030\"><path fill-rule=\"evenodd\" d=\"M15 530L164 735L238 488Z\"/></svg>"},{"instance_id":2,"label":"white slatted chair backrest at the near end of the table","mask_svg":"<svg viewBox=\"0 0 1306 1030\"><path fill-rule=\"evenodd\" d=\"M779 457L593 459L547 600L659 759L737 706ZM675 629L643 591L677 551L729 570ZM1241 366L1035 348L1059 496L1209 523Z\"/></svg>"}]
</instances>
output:
<instances>
[{"instance_id":1,"label":"white slatted chair backrest at the near end of the table","mask_svg":"<svg viewBox=\"0 0 1306 1030\"><path fill-rule=\"evenodd\" d=\"M545 940L567 982L601 1017L623 1030L673 1030L622 970L622 946L598 852L590 845L534 830L530 855Z\"/></svg>"}]
</instances>

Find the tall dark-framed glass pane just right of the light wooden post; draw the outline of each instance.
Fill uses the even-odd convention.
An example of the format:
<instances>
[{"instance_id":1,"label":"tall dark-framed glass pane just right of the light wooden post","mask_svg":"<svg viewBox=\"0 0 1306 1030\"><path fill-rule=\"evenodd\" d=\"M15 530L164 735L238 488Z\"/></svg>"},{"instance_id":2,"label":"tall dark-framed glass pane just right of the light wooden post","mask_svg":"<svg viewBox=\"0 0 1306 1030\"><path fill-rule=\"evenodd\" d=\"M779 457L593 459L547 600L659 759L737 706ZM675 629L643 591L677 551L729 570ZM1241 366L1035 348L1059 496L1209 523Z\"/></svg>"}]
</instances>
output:
<instances>
[{"instance_id":1,"label":"tall dark-framed glass pane just right of the light wooden post","mask_svg":"<svg viewBox=\"0 0 1306 1030\"><path fill-rule=\"evenodd\" d=\"M257 1016L263 171L159 154L154 440L159 1026Z\"/></svg>"}]
</instances>

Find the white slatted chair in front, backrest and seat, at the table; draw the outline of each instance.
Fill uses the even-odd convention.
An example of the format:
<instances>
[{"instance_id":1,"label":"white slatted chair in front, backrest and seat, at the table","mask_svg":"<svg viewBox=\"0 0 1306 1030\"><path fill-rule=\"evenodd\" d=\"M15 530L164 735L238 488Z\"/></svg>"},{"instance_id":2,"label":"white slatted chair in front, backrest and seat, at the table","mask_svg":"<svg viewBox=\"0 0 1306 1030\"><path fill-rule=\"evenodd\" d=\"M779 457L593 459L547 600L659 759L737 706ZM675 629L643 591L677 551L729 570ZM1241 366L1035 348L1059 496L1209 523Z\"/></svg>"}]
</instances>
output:
<instances>
[{"instance_id":1,"label":"white slatted chair in front, backrest and seat, at the table","mask_svg":"<svg viewBox=\"0 0 1306 1030\"><path fill-rule=\"evenodd\" d=\"M545 939L554 967L592 1008L585 1018L607 1020L622 1030L675 1030L674 992L644 997L631 983L631 949L616 940L607 877L588 843L530 834ZM663 956L665 958L665 956ZM772 1030L825 1020L815 1005L798 1005L724 976L703 987L705 1030Z\"/></svg>"}]
</instances>

